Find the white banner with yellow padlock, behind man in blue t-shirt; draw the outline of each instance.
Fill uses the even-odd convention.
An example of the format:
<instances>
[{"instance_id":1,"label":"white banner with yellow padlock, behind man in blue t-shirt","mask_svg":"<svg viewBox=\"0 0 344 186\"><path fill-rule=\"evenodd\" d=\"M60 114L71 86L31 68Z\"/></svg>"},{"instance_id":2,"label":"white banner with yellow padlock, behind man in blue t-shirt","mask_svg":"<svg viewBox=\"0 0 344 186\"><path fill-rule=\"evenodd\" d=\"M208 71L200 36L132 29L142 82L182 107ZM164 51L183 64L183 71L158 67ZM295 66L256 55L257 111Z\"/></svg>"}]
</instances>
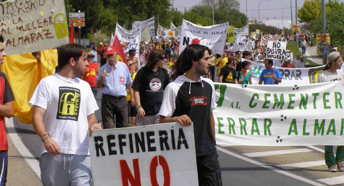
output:
<instances>
[{"instance_id":1,"label":"white banner with yellow padlock, behind man in blue t-shirt","mask_svg":"<svg viewBox=\"0 0 344 186\"><path fill-rule=\"evenodd\" d=\"M265 65L248 59L242 59L250 63L249 72L252 74L252 84L258 84L259 76L265 69ZM318 75L323 72L324 67L325 65L311 68L276 67L276 70L279 70L282 75L282 83L280 84L306 85L318 83Z\"/></svg>"}]
</instances>

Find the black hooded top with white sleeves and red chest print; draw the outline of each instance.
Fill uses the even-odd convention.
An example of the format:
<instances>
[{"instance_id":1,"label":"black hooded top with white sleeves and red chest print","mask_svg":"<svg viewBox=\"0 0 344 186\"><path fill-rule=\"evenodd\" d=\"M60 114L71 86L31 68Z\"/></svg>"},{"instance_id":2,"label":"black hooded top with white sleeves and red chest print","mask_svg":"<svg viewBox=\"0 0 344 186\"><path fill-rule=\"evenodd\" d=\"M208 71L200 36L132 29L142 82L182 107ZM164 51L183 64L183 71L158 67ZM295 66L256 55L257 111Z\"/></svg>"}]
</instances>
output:
<instances>
[{"instance_id":1,"label":"black hooded top with white sleeves and red chest print","mask_svg":"<svg viewBox=\"0 0 344 186\"><path fill-rule=\"evenodd\" d=\"M205 156L216 153L210 122L210 113L216 106L212 80L201 78L195 82L182 75L166 87L159 115L189 116L193 122L196 156Z\"/></svg>"}]
</instances>

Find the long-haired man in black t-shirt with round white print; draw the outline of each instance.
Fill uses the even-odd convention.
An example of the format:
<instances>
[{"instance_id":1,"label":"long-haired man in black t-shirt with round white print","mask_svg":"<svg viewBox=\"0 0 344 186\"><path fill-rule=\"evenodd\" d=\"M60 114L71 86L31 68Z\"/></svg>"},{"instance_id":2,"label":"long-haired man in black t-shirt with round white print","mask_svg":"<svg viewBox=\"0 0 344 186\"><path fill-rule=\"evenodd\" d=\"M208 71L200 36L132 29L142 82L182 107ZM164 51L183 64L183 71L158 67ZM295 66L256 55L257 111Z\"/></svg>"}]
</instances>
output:
<instances>
[{"instance_id":1,"label":"long-haired man in black t-shirt with round white print","mask_svg":"<svg viewBox=\"0 0 344 186\"><path fill-rule=\"evenodd\" d=\"M170 83L170 77L165 68L165 54L162 50L153 50L149 54L146 66L137 73L132 84L139 123L150 125L159 123L158 112L161 107L163 91Z\"/></svg>"}]
</instances>

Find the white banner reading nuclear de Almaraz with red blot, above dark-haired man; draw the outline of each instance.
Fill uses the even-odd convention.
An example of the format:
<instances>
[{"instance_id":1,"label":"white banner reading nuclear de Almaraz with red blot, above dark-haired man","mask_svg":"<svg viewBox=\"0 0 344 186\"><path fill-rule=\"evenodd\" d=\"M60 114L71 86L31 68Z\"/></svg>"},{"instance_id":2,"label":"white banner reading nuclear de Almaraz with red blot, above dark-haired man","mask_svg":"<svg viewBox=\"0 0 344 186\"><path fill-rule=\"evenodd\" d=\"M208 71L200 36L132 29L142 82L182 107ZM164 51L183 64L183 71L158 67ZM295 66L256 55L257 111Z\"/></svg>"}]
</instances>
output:
<instances>
[{"instance_id":1,"label":"white banner reading nuclear de Almaraz with red blot, above dark-haired man","mask_svg":"<svg viewBox=\"0 0 344 186\"><path fill-rule=\"evenodd\" d=\"M189 44L200 44L209 47L213 53L222 55L227 29L228 22L212 26L198 26L183 19L179 54Z\"/></svg>"}]
</instances>

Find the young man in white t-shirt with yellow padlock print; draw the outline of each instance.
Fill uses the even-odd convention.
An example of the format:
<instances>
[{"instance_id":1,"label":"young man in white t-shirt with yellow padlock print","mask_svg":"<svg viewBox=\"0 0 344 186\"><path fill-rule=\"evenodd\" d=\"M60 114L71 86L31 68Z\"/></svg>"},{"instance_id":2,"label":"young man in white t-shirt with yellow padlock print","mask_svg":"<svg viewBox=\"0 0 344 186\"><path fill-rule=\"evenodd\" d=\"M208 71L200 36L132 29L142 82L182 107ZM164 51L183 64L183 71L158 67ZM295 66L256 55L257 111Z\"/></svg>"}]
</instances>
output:
<instances>
[{"instance_id":1,"label":"young man in white t-shirt with yellow padlock print","mask_svg":"<svg viewBox=\"0 0 344 186\"><path fill-rule=\"evenodd\" d=\"M101 129L91 87L76 76L89 63L86 48L66 44L58 49L61 71L43 78L30 100L33 128L42 140L41 178L45 186L89 186L92 180L87 131Z\"/></svg>"}]
</instances>

